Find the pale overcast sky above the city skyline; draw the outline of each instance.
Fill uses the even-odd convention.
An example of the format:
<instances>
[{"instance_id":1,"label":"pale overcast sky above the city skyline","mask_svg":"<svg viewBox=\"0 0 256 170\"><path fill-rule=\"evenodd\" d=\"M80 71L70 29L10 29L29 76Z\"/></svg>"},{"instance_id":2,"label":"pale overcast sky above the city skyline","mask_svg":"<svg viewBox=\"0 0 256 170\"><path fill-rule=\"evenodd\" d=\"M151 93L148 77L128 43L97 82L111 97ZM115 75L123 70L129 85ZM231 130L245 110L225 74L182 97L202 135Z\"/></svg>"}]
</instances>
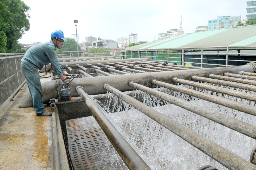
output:
<instances>
[{"instance_id":1,"label":"pale overcast sky above the city skyline","mask_svg":"<svg viewBox=\"0 0 256 170\"><path fill-rule=\"evenodd\" d=\"M246 0L23 0L29 6L30 29L20 43L48 42L54 30L65 37L76 34L79 43L86 37L112 39L138 35L138 41L151 42L158 33L179 29L182 15L184 33L193 33L197 26L207 25L218 16L246 15ZM208 26L208 25L207 25Z\"/></svg>"}]
</instances>

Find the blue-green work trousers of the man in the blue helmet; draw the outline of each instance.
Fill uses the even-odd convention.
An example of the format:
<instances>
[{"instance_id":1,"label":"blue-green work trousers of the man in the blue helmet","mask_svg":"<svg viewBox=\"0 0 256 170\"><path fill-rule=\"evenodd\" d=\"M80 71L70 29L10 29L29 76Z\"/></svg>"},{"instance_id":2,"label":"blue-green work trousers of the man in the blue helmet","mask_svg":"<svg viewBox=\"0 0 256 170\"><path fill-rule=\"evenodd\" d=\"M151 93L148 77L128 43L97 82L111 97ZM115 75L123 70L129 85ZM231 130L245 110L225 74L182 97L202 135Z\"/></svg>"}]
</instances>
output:
<instances>
[{"instance_id":1,"label":"blue-green work trousers of the man in the blue helmet","mask_svg":"<svg viewBox=\"0 0 256 170\"><path fill-rule=\"evenodd\" d=\"M39 116L46 112L45 106L43 106L43 99L41 94L42 85L37 68L31 67L30 65L30 62L22 60L21 69L27 80L27 86L29 87L32 105L34 110L37 112L37 116Z\"/></svg>"}]
</instances>

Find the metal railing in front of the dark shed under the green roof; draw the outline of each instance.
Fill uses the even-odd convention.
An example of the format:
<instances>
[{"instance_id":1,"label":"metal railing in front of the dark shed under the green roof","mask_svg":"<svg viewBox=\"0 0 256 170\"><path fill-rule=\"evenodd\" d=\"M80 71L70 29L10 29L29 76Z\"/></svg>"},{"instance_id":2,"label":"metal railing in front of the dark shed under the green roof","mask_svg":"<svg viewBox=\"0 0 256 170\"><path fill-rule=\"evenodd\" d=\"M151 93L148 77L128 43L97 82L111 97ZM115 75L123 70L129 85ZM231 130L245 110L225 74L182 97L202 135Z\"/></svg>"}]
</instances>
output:
<instances>
[{"instance_id":1,"label":"metal railing in front of the dark shed under the green roof","mask_svg":"<svg viewBox=\"0 0 256 170\"><path fill-rule=\"evenodd\" d=\"M196 67L245 65L256 60L256 47L190 47L121 50L121 58L149 57L155 62L177 63Z\"/></svg>"}]
</instances>

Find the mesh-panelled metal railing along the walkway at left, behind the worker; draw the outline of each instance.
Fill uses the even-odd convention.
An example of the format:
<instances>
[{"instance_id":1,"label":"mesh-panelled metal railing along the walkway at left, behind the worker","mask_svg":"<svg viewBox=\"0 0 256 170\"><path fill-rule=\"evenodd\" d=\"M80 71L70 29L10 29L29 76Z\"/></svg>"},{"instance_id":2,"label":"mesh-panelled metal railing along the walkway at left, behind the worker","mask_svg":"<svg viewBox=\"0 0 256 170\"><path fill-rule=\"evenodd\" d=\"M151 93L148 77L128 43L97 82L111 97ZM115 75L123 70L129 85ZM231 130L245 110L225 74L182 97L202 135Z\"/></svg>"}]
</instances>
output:
<instances>
[{"instance_id":1,"label":"mesh-panelled metal railing along the walkway at left, behind the worker","mask_svg":"<svg viewBox=\"0 0 256 170\"><path fill-rule=\"evenodd\" d=\"M26 82L21 70L23 56L24 53L0 53L0 111Z\"/></svg>"}]
</instances>

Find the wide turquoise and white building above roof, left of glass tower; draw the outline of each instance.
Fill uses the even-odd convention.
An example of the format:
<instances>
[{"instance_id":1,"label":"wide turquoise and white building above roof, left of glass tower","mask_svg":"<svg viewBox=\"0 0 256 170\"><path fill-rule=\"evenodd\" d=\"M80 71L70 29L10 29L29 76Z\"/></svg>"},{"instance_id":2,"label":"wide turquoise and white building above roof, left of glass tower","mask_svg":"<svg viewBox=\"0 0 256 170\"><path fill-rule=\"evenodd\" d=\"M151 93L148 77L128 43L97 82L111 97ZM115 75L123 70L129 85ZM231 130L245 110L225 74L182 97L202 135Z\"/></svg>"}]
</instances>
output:
<instances>
[{"instance_id":1,"label":"wide turquoise and white building above roof, left of glass tower","mask_svg":"<svg viewBox=\"0 0 256 170\"><path fill-rule=\"evenodd\" d=\"M237 26L241 16L219 16L217 19L208 20L208 30L218 30Z\"/></svg>"}]
</instances>

